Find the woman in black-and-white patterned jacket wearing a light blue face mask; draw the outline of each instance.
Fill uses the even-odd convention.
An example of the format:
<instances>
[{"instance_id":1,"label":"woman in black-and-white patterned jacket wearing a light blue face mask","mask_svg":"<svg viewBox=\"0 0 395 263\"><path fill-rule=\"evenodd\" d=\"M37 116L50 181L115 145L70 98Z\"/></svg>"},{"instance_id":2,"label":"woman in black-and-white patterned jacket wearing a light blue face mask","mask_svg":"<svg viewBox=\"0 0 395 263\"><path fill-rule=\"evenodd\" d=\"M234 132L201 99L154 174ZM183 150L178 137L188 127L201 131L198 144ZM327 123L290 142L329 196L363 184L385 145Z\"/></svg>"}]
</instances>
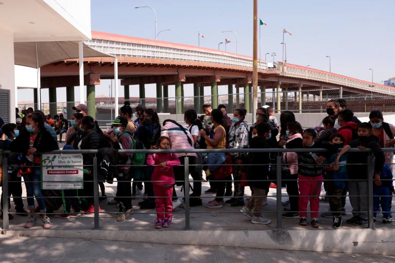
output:
<instances>
[{"instance_id":1,"label":"woman in black-and-white patterned jacket wearing a light blue face mask","mask_svg":"<svg viewBox=\"0 0 395 263\"><path fill-rule=\"evenodd\" d=\"M233 114L233 123L229 129L229 148L247 148L248 147L248 124L244 120L247 111L245 109L236 109ZM244 186L240 184L240 182L236 182L236 180L241 179L241 169L240 164L242 164L242 158L238 153L231 153L232 162L236 164L234 166L234 186L235 193L234 197L225 201L225 203L230 203L231 206L242 206L244 205Z\"/></svg>"}]
</instances>

